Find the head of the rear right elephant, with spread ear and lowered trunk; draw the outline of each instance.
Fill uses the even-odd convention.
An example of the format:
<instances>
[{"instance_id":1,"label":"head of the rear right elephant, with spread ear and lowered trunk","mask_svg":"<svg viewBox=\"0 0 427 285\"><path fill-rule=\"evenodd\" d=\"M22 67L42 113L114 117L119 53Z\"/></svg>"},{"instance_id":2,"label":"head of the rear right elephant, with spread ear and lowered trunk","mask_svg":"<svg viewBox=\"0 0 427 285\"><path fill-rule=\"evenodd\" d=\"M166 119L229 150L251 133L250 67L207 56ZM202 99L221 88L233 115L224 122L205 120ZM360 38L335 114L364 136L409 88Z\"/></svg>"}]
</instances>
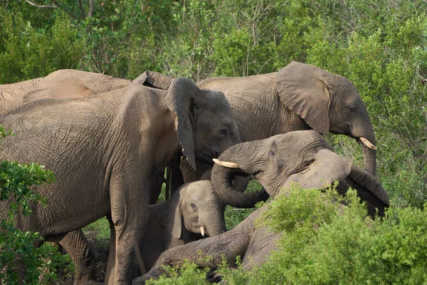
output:
<instances>
[{"instance_id":1,"label":"head of the rear right elephant, with spread ear and lowered trunk","mask_svg":"<svg viewBox=\"0 0 427 285\"><path fill-rule=\"evenodd\" d=\"M352 81L317 66L292 61L277 73L277 88L283 105L313 130L355 138L362 147L365 169L376 176L374 129Z\"/></svg>"}]
</instances>

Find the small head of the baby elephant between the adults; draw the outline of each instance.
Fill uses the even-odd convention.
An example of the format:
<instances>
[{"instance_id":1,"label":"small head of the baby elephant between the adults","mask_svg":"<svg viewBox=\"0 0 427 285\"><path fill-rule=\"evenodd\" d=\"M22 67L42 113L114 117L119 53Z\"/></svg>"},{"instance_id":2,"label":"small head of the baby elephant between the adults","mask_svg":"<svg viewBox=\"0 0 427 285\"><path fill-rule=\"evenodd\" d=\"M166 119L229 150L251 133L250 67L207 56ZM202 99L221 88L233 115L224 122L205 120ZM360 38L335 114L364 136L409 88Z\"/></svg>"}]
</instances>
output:
<instances>
[{"instance_id":1,"label":"small head of the baby elephant between the adults","mask_svg":"<svg viewBox=\"0 0 427 285\"><path fill-rule=\"evenodd\" d=\"M165 203L167 213L157 213L157 219L176 239L181 238L183 224L187 231L204 237L214 237L226 229L224 204L208 180L183 185Z\"/></svg>"}]
</instances>

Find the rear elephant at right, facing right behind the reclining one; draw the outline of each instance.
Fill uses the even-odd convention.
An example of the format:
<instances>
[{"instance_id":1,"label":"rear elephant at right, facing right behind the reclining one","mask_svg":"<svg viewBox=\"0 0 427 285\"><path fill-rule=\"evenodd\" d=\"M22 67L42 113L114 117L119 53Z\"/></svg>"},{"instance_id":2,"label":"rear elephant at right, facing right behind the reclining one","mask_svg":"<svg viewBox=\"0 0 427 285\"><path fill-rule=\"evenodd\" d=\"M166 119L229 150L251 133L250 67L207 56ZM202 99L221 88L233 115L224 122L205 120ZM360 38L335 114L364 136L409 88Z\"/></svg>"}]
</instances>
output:
<instances>
[{"instance_id":1,"label":"rear elephant at right, facing right behind the reclining one","mask_svg":"<svg viewBox=\"0 0 427 285\"><path fill-rule=\"evenodd\" d=\"M197 86L226 95L242 142L294 130L347 135L359 142L365 169L376 176L376 150L359 139L367 138L375 145L374 129L362 98L347 78L292 61L275 73L209 78ZM211 166L198 165L198 171L194 172L186 162L181 162L183 182L198 180Z\"/></svg>"}]
</instances>

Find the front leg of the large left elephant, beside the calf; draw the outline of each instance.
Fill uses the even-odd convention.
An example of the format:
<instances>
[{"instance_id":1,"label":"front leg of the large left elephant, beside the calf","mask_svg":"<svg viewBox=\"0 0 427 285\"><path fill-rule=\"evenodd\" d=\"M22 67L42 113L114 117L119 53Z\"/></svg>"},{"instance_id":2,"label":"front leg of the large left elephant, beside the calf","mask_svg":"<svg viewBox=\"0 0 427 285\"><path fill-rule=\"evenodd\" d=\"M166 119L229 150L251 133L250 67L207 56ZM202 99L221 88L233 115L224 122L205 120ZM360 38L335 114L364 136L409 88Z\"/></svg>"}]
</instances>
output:
<instances>
[{"instance_id":1,"label":"front leg of the large left elephant, beside the calf","mask_svg":"<svg viewBox=\"0 0 427 285\"><path fill-rule=\"evenodd\" d=\"M145 181L151 179L146 177ZM132 175L112 177L110 185L111 218L115 226L114 284L130 284L136 274L135 252L140 252L148 226L150 187Z\"/></svg>"}]
</instances>

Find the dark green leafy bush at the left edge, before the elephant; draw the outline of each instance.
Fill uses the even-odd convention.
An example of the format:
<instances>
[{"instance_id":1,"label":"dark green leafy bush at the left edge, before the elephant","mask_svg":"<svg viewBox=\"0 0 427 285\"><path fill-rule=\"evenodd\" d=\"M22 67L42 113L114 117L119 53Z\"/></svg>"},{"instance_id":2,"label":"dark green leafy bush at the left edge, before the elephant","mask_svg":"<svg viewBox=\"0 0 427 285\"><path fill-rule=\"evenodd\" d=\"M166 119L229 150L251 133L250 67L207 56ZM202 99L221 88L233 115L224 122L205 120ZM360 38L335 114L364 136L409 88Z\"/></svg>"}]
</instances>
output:
<instances>
[{"instance_id":1,"label":"dark green leafy bush at the left edge, before the elephant","mask_svg":"<svg viewBox=\"0 0 427 285\"><path fill-rule=\"evenodd\" d=\"M6 135L0 125L0 140ZM21 165L18 162L0 162L0 201L9 200L8 218L0 221L0 279L4 284L16 284L20 279L19 268L25 269L23 280L27 284L51 284L57 279L57 267L64 267L65 274L70 262L68 255L61 255L58 247L45 243L38 247L42 238L38 232L23 232L14 228L14 216L22 212L31 214L37 202L46 200L31 190L33 185L50 184L53 173L38 164ZM5 214L5 212L3 212Z\"/></svg>"}]
</instances>

